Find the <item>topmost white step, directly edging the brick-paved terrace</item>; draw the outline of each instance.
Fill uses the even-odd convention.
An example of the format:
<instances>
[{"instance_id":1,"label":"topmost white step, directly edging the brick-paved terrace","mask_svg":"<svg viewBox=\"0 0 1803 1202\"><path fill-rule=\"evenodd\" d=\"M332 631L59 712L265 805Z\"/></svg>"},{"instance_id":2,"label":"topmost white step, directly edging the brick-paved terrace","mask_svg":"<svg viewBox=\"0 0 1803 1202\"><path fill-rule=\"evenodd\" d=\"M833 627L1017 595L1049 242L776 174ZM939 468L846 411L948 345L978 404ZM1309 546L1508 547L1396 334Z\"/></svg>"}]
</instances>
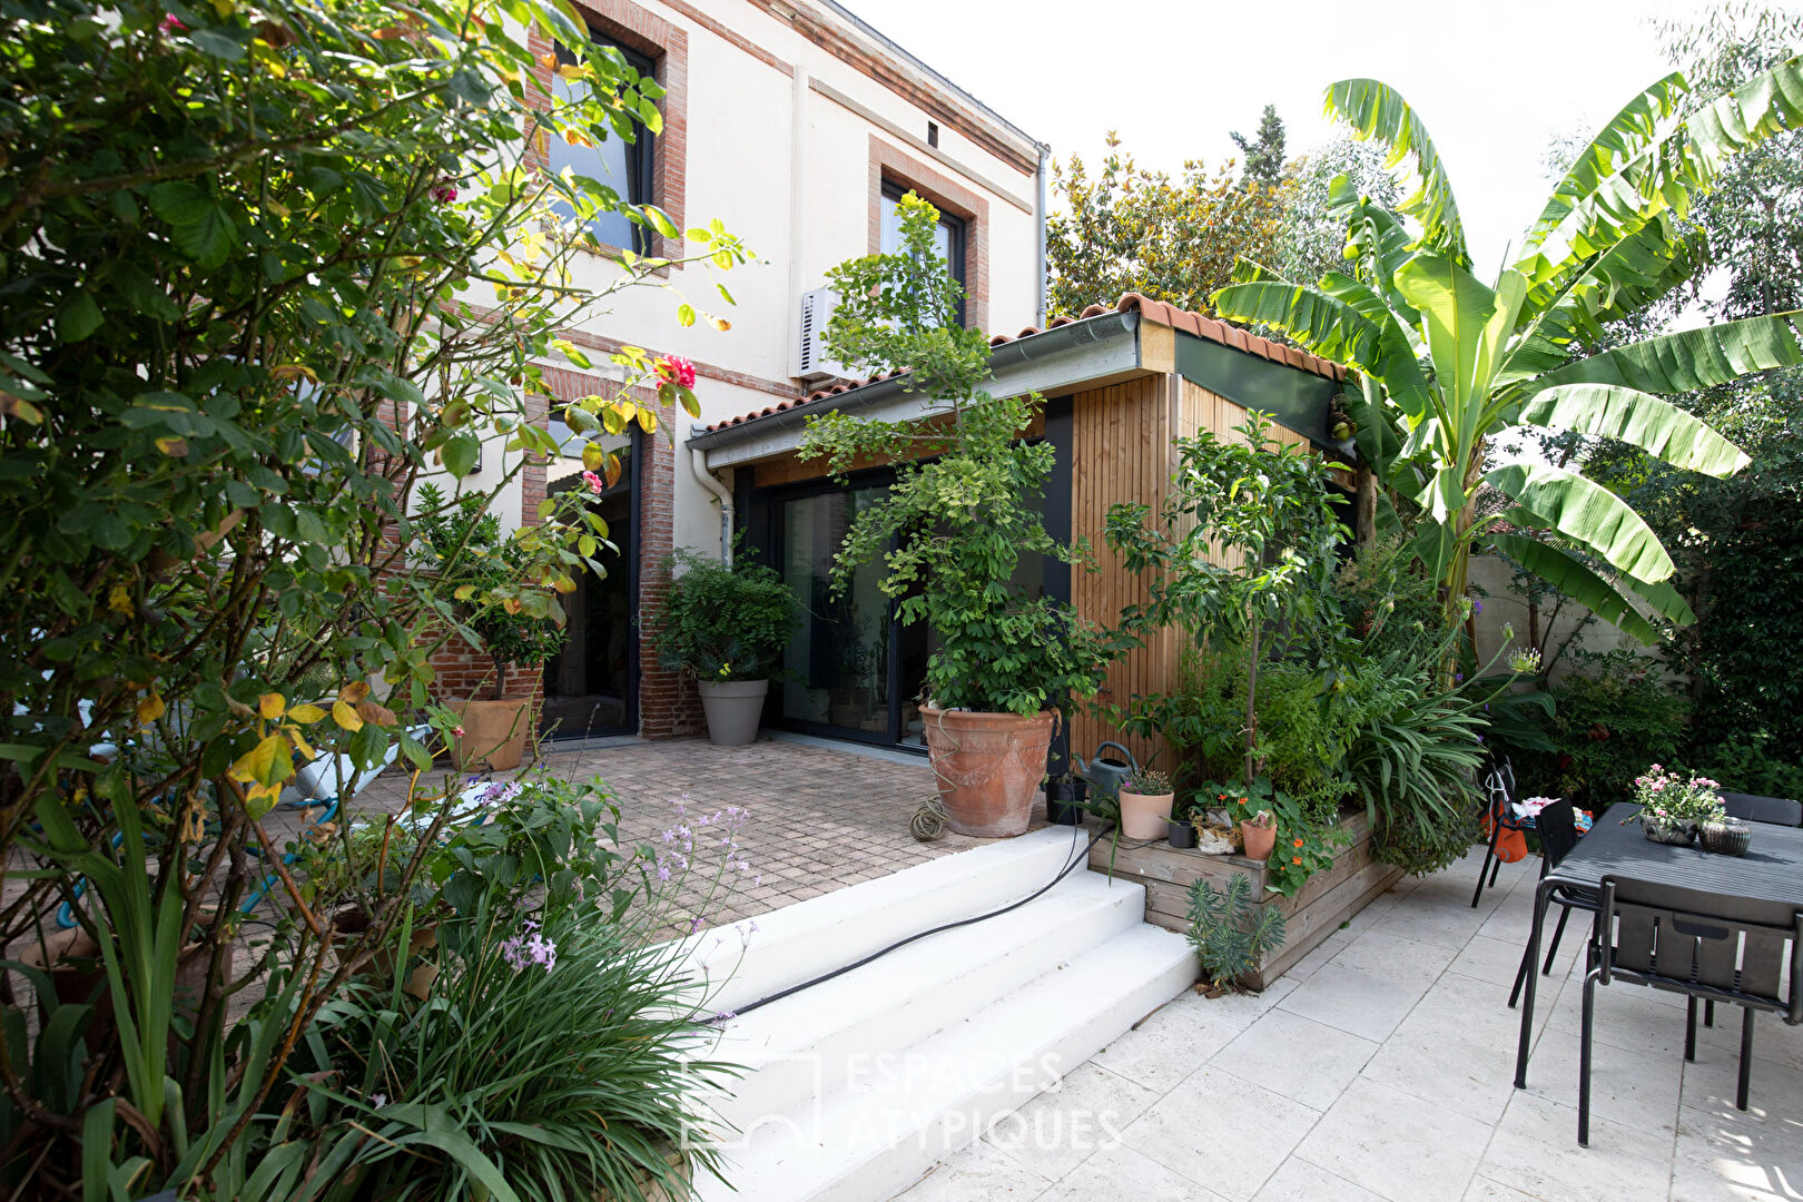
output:
<instances>
[{"instance_id":1,"label":"topmost white step, directly edging the brick-paved terrace","mask_svg":"<svg viewBox=\"0 0 1803 1202\"><path fill-rule=\"evenodd\" d=\"M683 939L685 971L707 989L710 1009L734 1011L898 939L1019 901L1073 856L1082 860L1085 845L1082 827L1046 827L797 901Z\"/></svg>"}]
</instances>

